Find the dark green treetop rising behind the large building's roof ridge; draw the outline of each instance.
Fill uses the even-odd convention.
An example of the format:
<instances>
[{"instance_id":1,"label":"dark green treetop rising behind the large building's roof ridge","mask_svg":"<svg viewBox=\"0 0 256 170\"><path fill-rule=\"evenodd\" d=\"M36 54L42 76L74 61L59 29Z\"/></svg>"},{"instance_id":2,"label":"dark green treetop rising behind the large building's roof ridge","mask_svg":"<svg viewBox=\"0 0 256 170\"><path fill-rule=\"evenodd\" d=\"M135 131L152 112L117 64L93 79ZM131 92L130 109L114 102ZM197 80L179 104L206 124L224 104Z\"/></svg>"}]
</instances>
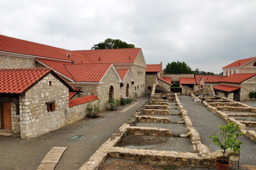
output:
<instances>
[{"instance_id":1,"label":"dark green treetop rising behind the large building's roof ridge","mask_svg":"<svg viewBox=\"0 0 256 170\"><path fill-rule=\"evenodd\" d=\"M114 49L114 48L136 48L133 44L127 44L126 42L119 39L108 38L104 42L94 44L92 50L98 49Z\"/></svg>"}]
</instances>

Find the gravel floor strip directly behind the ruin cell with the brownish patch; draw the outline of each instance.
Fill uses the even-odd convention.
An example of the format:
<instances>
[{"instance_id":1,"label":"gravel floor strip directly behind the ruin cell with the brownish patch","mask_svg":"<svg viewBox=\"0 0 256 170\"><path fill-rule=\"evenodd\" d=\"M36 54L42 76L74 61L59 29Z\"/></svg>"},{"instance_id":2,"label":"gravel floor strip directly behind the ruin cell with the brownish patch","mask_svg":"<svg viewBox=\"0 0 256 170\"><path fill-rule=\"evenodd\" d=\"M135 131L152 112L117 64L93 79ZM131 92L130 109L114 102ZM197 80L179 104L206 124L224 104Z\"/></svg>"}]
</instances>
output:
<instances>
[{"instance_id":1,"label":"gravel floor strip directly behind the ruin cell with the brownish patch","mask_svg":"<svg viewBox=\"0 0 256 170\"><path fill-rule=\"evenodd\" d=\"M165 129L169 129L170 132L173 132L175 134L187 134L188 133L188 130L187 130L185 124L138 122L135 126L165 128Z\"/></svg>"}]
</instances>

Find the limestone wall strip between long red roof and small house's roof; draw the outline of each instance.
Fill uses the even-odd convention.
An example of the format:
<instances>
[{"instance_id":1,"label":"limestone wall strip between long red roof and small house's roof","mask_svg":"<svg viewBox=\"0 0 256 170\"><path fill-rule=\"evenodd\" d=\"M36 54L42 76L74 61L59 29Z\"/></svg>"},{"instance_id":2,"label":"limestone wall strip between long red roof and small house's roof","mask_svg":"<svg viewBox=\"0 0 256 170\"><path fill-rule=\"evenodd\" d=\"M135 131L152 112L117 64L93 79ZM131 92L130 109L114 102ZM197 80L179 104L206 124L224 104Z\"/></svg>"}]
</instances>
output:
<instances>
[{"instance_id":1,"label":"limestone wall strip between long red roof and small house's roof","mask_svg":"<svg viewBox=\"0 0 256 170\"><path fill-rule=\"evenodd\" d=\"M36 68L36 61L33 58L0 55L0 68Z\"/></svg>"}]
</instances>

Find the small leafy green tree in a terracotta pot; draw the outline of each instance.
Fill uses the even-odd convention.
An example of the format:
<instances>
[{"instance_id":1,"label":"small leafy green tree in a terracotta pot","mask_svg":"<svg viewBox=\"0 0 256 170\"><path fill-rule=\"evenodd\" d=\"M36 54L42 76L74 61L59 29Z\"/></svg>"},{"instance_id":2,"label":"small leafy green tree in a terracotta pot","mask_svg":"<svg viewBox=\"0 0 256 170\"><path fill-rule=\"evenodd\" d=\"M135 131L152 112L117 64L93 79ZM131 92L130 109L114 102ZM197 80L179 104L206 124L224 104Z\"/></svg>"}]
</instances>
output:
<instances>
[{"instance_id":1,"label":"small leafy green tree in a terracotta pot","mask_svg":"<svg viewBox=\"0 0 256 170\"><path fill-rule=\"evenodd\" d=\"M217 131L213 134L213 136L209 136L216 145L218 145L223 150L223 157L222 159L215 160L215 164L217 170L227 170L230 162L224 160L225 152L230 148L233 152L240 151L240 145L242 142L239 142L237 138L244 134L243 132L236 133L238 130L239 125L233 127L234 122L228 122L226 126L218 126L219 133L216 135Z\"/></svg>"}]
</instances>

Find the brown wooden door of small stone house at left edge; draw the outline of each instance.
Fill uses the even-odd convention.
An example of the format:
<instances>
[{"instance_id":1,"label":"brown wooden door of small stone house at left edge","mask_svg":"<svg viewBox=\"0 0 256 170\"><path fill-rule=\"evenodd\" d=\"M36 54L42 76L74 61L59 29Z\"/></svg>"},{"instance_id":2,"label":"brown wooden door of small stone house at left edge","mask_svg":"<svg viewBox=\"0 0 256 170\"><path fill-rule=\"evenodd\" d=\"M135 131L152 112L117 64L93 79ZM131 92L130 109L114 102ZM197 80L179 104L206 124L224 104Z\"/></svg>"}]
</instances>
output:
<instances>
[{"instance_id":1,"label":"brown wooden door of small stone house at left edge","mask_svg":"<svg viewBox=\"0 0 256 170\"><path fill-rule=\"evenodd\" d=\"M11 103L2 102L2 129L12 129Z\"/></svg>"}]
</instances>

